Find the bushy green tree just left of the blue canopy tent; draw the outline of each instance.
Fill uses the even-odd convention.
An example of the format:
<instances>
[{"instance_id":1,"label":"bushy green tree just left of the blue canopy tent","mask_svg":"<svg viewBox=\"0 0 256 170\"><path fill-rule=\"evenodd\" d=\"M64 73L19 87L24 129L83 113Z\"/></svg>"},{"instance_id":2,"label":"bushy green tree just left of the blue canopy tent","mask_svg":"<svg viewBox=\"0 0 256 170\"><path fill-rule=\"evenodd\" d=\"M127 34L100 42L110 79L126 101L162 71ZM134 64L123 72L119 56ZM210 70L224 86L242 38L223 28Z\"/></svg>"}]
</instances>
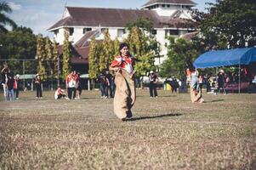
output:
<instances>
[{"instance_id":1,"label":"bushy green tree just left of the blue canopy tent","mask_svg":"<svg viewBox=\"0 0 256 170\"><path fill-rule=\"evenodd\" d=\"M162 63L160 75L162 77L183 77L187 61L196 59L199 53L192 42L187 42L182 38L175 40L174 37L168 37L168 40L168 59Z\"/></svg>"}]
</instances>

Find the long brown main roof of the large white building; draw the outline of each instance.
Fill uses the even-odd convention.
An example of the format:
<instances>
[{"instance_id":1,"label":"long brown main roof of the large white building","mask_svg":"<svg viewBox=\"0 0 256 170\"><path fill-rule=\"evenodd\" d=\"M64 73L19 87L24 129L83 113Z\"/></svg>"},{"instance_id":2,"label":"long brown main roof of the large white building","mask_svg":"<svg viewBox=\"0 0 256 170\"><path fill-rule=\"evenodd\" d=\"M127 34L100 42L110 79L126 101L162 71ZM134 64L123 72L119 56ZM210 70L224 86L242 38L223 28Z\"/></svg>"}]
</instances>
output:
<instances>
[{"instance_id":1,"label":"long brown main roof of the large white building","mask_svg":"<svg viewBox=\"0 0 256 170\"><path fill-rule=\"evenodd\" d=\"M185 1L185 0L184 0ZM187 0L188 1L188 0ZM125 27L138 18L148 18L155 28L162 28L166 17L159 16L154 10L122 9L122 8L78 8L66 7L70 16L59 20L48 31L54 31L61 26L94 26L94 27ZM170 17L168 17L170 19ZM179 22L179 19L175 22ZM173 20L168 20L168 26Z\"/></svg>"}]
</instances>

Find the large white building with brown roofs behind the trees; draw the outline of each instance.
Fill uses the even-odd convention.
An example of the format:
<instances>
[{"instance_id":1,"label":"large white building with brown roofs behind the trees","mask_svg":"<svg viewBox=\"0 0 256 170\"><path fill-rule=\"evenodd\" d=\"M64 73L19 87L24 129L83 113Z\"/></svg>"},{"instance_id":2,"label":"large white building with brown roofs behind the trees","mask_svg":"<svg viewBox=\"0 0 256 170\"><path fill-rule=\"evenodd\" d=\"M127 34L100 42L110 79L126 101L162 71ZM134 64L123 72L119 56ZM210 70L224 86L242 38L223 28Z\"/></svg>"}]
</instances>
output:
<instances>
[{"instance_id":1,"label":"large white building with brown roofs behind the trees","mask_svg":"<svg viewBox=\"0 0 256 170\"><path fill-rule=\"evenodd\" d=\"M86 60L88 41L91 37L100 39L103 37L103 31L108 29L111 39L117 37L122 41L128 35L125 26L129 22L149 18L154 26L151 34L161 43L162 58L156 59L155 62L159 65L167 57L168 41L165 37L181 37L193 31L186 23L191 21L191 7L195 5L191 0L150 0L141 9L65 7L62 19L48 31L54 32L54 39L60 45L64 41L64 32L68 31L70 41L77 48L78 54L81 52L81 57Z\"/></svg>"}]
</instances>

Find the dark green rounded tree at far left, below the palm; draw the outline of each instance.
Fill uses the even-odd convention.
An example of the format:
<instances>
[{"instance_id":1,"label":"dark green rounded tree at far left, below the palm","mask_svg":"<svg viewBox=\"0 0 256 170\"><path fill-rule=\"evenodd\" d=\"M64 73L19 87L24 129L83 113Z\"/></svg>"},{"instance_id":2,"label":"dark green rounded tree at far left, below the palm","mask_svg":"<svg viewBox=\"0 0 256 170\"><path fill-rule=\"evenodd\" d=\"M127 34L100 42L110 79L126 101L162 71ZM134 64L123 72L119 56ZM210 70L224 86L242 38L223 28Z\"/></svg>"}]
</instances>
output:
<instances>
[{"instance_id":1,"label":"dark green rounded tree at far left, below the palm","mask_svg":"<svg viewBox=\"0 0 256 170\"><path fill-rule=\"evenodd\" d=\"M0 59L35 59L37 39L30 28L18 27L7 33L0 31ZM25 73L36 72L37 63L27 61L24 63ZM14 73L23 73L23 62L9 61L9 68Z\"/></svg>"}]
</instances>

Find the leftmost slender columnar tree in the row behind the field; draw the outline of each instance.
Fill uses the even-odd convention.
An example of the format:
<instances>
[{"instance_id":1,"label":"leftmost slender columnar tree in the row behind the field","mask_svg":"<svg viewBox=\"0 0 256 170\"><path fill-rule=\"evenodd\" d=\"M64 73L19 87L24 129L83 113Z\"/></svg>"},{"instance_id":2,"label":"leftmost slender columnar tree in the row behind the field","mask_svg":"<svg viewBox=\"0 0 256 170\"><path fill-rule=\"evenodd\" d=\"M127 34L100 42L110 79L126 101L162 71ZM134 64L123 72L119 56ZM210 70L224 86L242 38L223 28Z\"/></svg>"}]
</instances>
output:
<instances>
[{"instance_id":1,"label":"leftmost slender columnar tree in the row behind the field","mask_svg":"<svg viewBox=\"0 0 256 170\"><path fill-rule=\"evenodd\" d=\"M38 66L37 66L37 72L41 75L42 80L45 81L47 78L46 69L45 69L45 48L44 48L44 40L43 36L39 34L37 36L37 59L38 59Z\"/></svg>"}]
</instances>

